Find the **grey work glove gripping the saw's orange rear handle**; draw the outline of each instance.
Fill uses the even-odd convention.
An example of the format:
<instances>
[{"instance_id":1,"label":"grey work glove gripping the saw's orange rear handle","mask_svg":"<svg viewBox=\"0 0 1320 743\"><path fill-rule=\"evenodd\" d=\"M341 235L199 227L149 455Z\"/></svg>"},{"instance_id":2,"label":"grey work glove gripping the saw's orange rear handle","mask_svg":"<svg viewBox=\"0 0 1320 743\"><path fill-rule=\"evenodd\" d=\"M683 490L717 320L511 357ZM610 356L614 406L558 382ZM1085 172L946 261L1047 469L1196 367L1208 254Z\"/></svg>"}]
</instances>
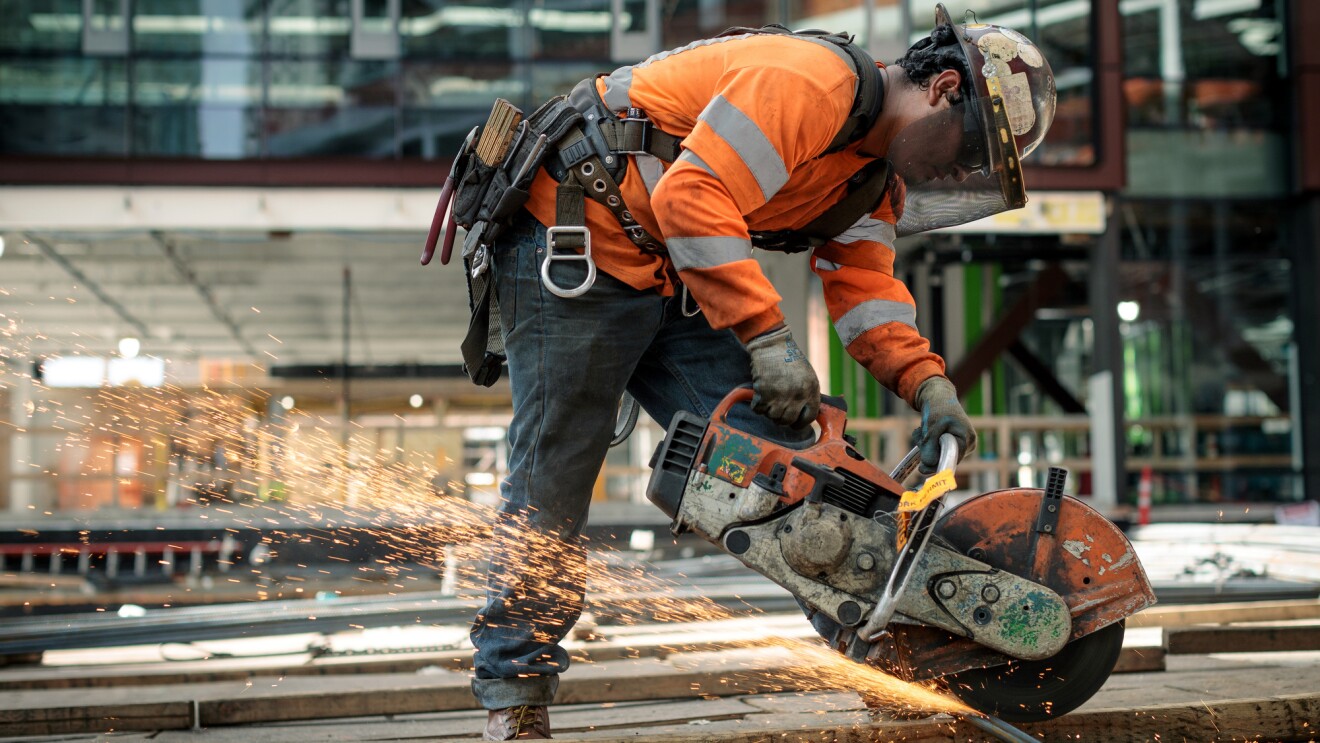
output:
<instances>
[{"instance_id":1,"label":"grey work glove gripping the saw's orange rear handle","mask_svg":"<svg viewBox=\"0 0 1320 743\"><path fill-rule=\"evenodd\" d=\"M788 327L747 342L751 355L751 409L781 426L812 425L821 409L821 383Z\"/></svg>"}]
</instances>

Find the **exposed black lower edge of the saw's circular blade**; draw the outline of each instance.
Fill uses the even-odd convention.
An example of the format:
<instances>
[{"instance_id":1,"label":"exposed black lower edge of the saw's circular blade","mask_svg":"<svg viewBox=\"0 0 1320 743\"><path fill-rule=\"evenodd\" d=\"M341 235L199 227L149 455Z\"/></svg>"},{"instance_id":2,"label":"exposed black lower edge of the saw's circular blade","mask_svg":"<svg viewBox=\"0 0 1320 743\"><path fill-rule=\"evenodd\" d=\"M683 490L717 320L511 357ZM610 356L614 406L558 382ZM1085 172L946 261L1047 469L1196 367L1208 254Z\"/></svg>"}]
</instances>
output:
<instances>
[{"instance_id":1,"label":"exposed black lower edge of the saw's circular blade","mask_svg":"<svg viewBox=\"0 0 1320 743\"><path fill-rule=\"evenodd\" d=\"M1071 713L1104 686L1123 649L1123 622L1064 645L1045 660L1015 660L944 677L969 706L1007 722L1039 722Z\"/></svg>"}]
</instances>

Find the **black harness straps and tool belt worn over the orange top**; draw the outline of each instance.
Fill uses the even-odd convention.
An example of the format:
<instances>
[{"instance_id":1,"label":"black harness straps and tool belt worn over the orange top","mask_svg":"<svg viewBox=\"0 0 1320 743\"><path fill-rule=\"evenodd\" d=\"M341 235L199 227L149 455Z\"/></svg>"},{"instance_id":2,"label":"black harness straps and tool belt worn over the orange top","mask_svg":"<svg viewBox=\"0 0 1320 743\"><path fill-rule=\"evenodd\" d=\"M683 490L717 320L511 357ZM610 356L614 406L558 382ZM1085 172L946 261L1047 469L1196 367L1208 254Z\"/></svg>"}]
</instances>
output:
<instances>
[{"instance_id":1,"label":"black harness straps and tool belt worn over the orange top","mask_svg":"<svg viewBox=\"0 0 1320 743\"><path fill-rule=\"evenodd\" d=\"M850 34L814 29L793 32L771 24L763 28L731 28L715 38L750 34L793 36L828 42L851 59L858 75L853 107L822 154L842 150L870 131L883 107L884 87L875 61L853 42ZM597 94L594 78L579 82L566 96L546 102L527 119L524 127L519 129L504 162L496 168L473 157L470 143L477 133L474 131L450 173L457 183L450 219L467 230L463 264L469 276L473 318L462 343L463 368L475 384L484 387L495 384L504 362L499 307L487 275L490 249L527 202L531 181L540 166L544 165L558 181L554 226L546 230L541 281L556 296L577 297L595 281L591 234L586 228L586 199L591 198L610 210L638 249L648 255L665 255L664 243L638 224L623 201L619 183L627 172L630 154L649 154L668 164L682 152L681 139L659 129L644 111L628 108L623 116L610 111ZM799 230L752 231L752 245L789 253L822 245L874 211L890 179L887 161L869 164L853 176L847 195L809 224ZM446 203L444 198L441 201L440 210L444 210ZM433 248L436 231L433 226L429 249ZM450 228L449 234L451 232ZM426 255L429 256L429 251ZM550 267L556 261L585 261L586 278L573 288L554 284Z\"/></svg>"}]
</instances>

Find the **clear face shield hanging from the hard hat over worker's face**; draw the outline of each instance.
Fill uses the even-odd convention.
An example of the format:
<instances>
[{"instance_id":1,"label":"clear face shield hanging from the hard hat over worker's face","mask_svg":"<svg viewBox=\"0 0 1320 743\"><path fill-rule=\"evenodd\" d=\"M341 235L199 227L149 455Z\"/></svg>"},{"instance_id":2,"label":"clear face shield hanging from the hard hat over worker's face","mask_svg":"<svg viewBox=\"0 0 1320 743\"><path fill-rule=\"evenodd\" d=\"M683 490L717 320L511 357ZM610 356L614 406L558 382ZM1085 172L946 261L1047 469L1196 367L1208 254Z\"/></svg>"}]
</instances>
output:
<instances>
[{"instance_id":1,"label":"clear face shield hanging from the hard hat over worker's face","mask_svg":"<svg viewBox=\"0 0 1320 743\"><path fill-rule=\"evenodd\" d=\"M1027 203L1003 98L956 103L909 124L888 160L907 185L898 234L973 222Z\"/></svg>"}]
</instances>

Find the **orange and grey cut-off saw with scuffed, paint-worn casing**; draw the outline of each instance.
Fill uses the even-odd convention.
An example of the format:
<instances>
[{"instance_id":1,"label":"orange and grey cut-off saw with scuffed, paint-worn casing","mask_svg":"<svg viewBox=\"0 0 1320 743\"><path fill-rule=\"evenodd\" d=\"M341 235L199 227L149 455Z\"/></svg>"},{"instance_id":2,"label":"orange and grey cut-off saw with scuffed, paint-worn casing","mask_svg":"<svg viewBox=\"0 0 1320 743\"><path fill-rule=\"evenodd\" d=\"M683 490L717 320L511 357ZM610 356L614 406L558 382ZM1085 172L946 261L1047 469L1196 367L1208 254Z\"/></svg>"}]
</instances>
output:
<instances>
[{"instance_id":1,"label":"orange and grey cut-off saw with scuffed, paint-worn casing","mask_svg":"<svg viewBox=\"0 0 1320 743\"><path fill-rule=\"evenodd\" d=\"M940 678L973 709L1043 721L1089 699L1114 669L1125 619L1155 603L1131 544L1063 494L1008 488L944 509L957 442L916 490L857 451L846 405L822 397L820 437L792 449L738 430L733 391L710 420L680 412L652 457L647 496L785 587L842 631L847 657L908 681Z\"/></svg>"}]
</instances>

